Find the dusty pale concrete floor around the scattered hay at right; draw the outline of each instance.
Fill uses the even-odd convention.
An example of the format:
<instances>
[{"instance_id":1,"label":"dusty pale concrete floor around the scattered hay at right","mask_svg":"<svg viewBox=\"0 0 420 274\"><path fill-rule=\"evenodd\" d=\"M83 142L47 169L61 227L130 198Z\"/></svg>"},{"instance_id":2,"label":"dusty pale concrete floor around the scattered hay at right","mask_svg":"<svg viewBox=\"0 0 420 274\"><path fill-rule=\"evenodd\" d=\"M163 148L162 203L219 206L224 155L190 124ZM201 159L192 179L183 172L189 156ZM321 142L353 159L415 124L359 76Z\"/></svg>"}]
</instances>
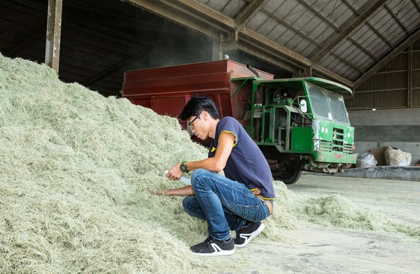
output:
<instances>
[{"instance_id":1,"label":"dusty pale concrete floor around the scattered hay at right","mask_svg":"<svg viewBox=\"0 0 420 274\"><path fill-rule=\"evenodd\" d=\"M372 208L390 219L420 224L420 182L302 175L289 189L296 194L339 194L360 208ZM285 230L290 243L255 239L219 264L255 261L243 273L420 273L420 240L400 233L325 228L307 224ZM216 263L216 261L214 261ZM241 271L239 271L241 272Z\"/></svg>"}]
</instances>

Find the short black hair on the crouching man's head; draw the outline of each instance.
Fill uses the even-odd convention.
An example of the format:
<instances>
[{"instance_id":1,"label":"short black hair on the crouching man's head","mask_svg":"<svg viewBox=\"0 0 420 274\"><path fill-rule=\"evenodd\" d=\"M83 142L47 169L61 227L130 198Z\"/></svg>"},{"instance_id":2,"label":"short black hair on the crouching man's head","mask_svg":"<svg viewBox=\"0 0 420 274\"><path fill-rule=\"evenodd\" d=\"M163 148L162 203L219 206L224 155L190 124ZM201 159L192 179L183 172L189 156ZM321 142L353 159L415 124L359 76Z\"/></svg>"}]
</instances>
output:
<instances>
[{"instance_id":1,"label":"short black hair on the crouching man's head","mask_svg":"<svg viewBox=\"0 0 420 274\"><path fill-rule=\"evenodd\" d=\"M182 113L179 115L181 120L186 121L192 116L199 115L203 110L207 111L214 119L219 119L218 109L213 100L206 96L194 96L184 106Z\"/></svg>"}]
</instances>

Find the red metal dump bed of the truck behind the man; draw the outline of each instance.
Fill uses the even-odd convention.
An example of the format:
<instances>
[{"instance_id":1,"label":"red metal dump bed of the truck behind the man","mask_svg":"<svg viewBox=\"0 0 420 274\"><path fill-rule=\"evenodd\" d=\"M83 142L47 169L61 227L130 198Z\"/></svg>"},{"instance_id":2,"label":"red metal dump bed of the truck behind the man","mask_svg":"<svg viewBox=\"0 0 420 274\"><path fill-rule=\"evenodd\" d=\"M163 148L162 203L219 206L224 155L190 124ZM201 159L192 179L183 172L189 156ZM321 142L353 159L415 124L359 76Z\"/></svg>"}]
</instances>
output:
<instances>
[{"instance_id":1,"label":"red metal dump bed of the truck behind the man","mask_svg":"<svg viewBox=\"0 0 420 274\"><path fill-rule=\"evenodd\" d=\"M243 118L250 109L246 105L251 102L251 87L240 88L241 82L230 79L253 76L263 80L274 78L272 74L229 59L141 69L124 73L121 93L136 105L172 117L181 113L191 97L204 95L215 101L221 117L232 116L246 124L249 119L244 121ZM186 122L180 123L185 129Z\"/></svg>"}]
</instances>

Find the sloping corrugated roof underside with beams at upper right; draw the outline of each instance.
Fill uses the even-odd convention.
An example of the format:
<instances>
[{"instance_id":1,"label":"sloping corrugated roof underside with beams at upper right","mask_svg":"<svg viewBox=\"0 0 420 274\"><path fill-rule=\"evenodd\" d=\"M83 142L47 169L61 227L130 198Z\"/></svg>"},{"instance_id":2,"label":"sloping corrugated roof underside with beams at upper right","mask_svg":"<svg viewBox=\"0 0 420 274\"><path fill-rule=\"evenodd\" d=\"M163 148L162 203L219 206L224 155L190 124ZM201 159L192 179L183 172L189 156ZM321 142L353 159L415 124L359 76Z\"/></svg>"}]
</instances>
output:
<instances>
[{"instance_id":1,"label":"sloping corrugated roof underside with beams at upper right","mask_svg":"<svg viewBox=\"0 0 420 274\"><path fill-rule=\"evenodd\" d=\"M240 34L248 28L274 42L268 45L270 50L276 45L286 48L279 50L279 55L292 59L291 63L297 68L307 66L308 71L314 69L314 73L326 73L335 80L344 78L349 80L347 85L353 86L398 45L412 36L419 37L419 0L198 1L232 22L245 22L232 27L231 23L212 20L238 32L239 36L235 38L239 43L247 43L249 37ZM188 4L197 1L174 1L173 7L177 6L176 2L188 6L194 13L202 13L204 17L213 16L209 10ZM241 16L250 6L253 12L244 20ZM267 46L261 44L262 48ZM289 53L302 58L293 58ZM302 60L306 64L302 65Z\"/></svg>"}]
</instances>

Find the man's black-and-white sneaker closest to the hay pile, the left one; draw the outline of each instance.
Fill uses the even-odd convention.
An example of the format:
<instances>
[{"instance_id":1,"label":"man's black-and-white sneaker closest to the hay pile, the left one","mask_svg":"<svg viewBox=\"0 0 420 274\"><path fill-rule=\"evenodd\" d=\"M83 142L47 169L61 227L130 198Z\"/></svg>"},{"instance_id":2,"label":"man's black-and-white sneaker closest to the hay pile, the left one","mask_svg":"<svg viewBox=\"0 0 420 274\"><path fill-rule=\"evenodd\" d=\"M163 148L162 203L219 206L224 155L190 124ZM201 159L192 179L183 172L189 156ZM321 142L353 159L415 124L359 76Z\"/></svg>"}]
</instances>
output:
<instances>
[{"instance_id":1,"label":"man's black-and-white sneaker closest to the hay pile, the left one","mask_svg":"<svg viewBox=\"0 0 420 274\"><path fill-rule=\"evenodd\" d=\"M216 240L209 236L203 243L193 245L190 250L201 256L223 256L235 253L235 244L233 238L229 240Z\"/></svg>"}]
</instances>

